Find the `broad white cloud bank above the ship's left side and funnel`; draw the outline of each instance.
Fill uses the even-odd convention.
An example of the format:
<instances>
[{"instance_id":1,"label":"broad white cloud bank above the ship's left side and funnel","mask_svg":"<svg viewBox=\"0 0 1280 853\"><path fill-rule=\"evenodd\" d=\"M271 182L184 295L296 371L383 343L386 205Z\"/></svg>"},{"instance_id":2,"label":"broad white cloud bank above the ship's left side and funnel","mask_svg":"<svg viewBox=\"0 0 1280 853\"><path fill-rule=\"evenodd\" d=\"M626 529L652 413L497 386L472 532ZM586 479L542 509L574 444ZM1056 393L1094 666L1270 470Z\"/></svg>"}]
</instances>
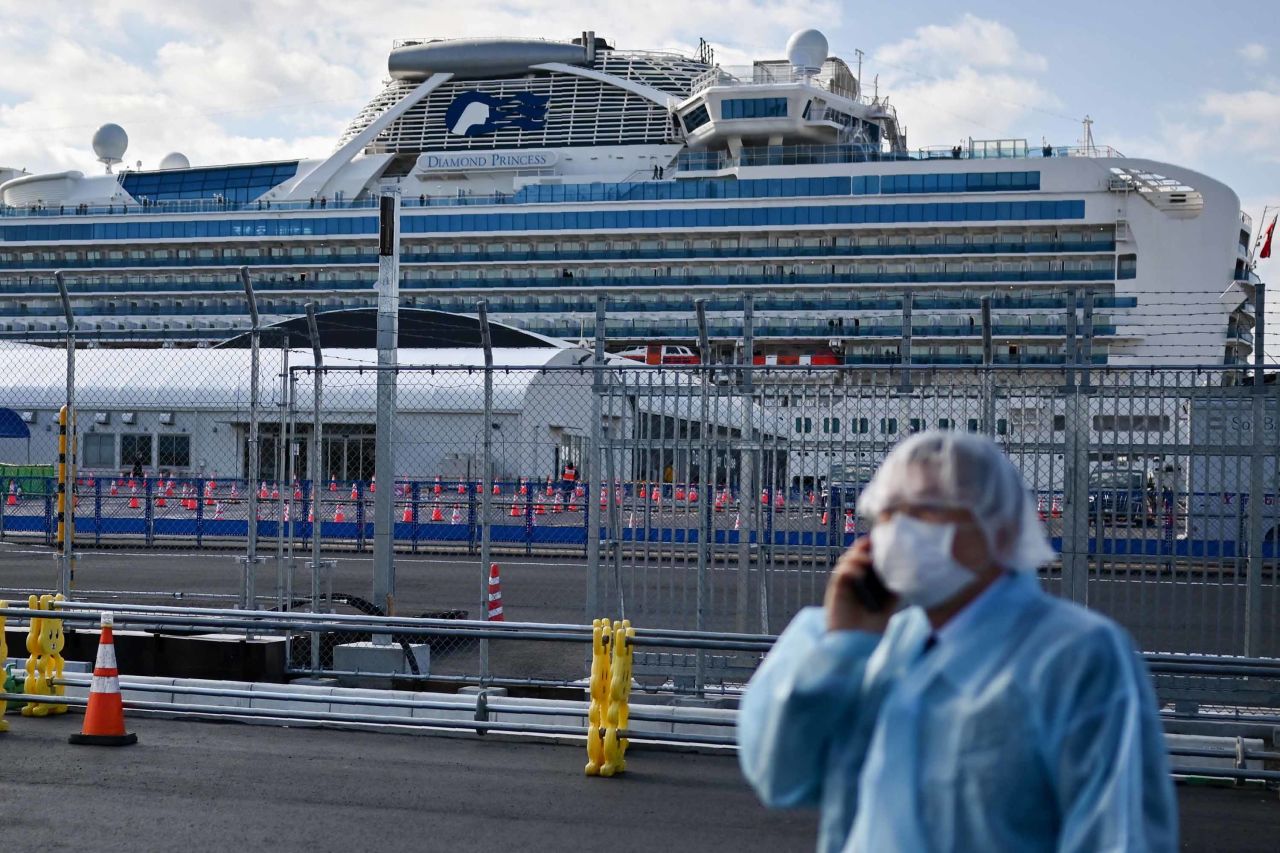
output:
<instances>
[{"instance_id":1,"label":"broad white cloud bank above the ship's left side and funnel","mask_svg":"<svg viewBox=\"0 0 1280 853\"><path fill-rule=\"evenodd\" d=\"M840 0L690 4L588 0L0 0L0 165L96 169L104 122L127 160L172 150L193 164L321 156L380 88L394 38L582 29L623 47L692 53L714 33L722 61L781 56L800 27L837 27Z\"/></svg>"}]
</instances>

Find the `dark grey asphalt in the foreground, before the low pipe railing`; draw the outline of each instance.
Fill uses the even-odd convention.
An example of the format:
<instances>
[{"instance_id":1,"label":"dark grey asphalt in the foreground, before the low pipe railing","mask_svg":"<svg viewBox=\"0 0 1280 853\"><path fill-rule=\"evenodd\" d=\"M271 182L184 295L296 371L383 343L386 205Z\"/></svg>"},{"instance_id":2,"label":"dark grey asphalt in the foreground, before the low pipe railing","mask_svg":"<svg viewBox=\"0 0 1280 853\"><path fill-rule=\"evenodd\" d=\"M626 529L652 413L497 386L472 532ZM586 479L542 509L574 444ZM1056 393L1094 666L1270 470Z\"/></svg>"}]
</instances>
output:
<instances>
[{"instance_id":1,"label":"dark grey asphalt in the foreground, before the low pipe railing","mask_svg":"<svg viewBox=\"0 0 1280 853\"><path fill-rule=\"evenodd\" d=\"M812 850L813 812L759 806L727 756L635 749L618 779L581 747L131 720L125 749L67 744L79 719L10 717L0 827L29 850ZM1180 786L1183 850L1271 853L1274 792Z\"/></svg>"}]
</instances>

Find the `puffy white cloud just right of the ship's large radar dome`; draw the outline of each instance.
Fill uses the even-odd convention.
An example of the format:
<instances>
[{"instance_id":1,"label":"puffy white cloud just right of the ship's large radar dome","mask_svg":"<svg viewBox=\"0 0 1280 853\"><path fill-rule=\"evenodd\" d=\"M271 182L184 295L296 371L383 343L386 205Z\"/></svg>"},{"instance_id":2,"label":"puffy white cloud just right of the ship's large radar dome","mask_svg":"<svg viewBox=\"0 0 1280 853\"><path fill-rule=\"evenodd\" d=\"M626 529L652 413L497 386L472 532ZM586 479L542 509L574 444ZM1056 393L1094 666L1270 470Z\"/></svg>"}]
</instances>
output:
<instances>
[{"instance_id":1,"label":"puffy white cloud just right of the ship's large radar dome","mask_svg":"<svg viewBox=\"0 0 1280 853\"><path fill-rule=\"evenodd\" d=\"M879 91L902 108L916 147L968 137L1032 137L1038 143L1030 128L1044 127L1046 114L1061 109L1037 79L1048 60L1024 49L1005 24L972 14L950 26L920 27L910 38L881 47L867 69L868 77L879 76ZM1056 115L1051 122L1053 128L1064 124ZM1065 141L1048 136L1051 142Z\"/></svg>"}]
</instances>

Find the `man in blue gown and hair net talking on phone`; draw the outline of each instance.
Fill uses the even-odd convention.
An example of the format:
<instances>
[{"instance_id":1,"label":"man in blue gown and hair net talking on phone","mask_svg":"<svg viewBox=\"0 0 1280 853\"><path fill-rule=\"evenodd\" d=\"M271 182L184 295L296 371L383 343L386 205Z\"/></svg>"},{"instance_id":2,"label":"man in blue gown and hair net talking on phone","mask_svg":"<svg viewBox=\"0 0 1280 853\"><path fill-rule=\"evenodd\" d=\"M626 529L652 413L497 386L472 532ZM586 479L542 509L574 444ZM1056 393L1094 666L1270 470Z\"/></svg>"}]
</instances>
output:
<instances>
[{"instance_id":1,"label":"man in blue gown and hair net talking on phone","mask_svg":"<svg viewBox=\"0 0 1280 853\"><path fill-rule=\"evenodd\" d=\"M1114 622L1041 590L1052 551L1000 448L914 435L859 511L870 535L742 698L762 799L819 804L823 853L1176 849L1146 667Z\"/></svg>"}]
</instances>

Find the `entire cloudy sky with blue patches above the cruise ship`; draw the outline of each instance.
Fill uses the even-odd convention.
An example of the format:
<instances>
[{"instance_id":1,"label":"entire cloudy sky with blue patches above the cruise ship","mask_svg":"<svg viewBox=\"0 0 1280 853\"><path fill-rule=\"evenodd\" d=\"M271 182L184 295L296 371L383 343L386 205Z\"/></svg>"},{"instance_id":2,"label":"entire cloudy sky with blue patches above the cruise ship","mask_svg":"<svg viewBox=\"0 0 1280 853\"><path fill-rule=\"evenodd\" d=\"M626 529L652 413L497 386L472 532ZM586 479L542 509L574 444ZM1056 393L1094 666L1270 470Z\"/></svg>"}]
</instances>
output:
<instances>
[{"instance_id":1,"label":"entire cloudy sky with blue patches above the cruise ship","mask_svg":"<svg viewBox=\"0 0 1280 853\"><path fill-rule=\"evenodd\" d=\"M781 58L801 27L850 65L865 51L867 88L878 76L913 147L1074 145L1088 114L1100 145L1222 179L1254 219L1280 205L1275 0L0 0L0 167L96 170L104 122L143 167L320 156L380 88L393 38L703 37L732 65Z\"/></svg>"}]
</instances>

